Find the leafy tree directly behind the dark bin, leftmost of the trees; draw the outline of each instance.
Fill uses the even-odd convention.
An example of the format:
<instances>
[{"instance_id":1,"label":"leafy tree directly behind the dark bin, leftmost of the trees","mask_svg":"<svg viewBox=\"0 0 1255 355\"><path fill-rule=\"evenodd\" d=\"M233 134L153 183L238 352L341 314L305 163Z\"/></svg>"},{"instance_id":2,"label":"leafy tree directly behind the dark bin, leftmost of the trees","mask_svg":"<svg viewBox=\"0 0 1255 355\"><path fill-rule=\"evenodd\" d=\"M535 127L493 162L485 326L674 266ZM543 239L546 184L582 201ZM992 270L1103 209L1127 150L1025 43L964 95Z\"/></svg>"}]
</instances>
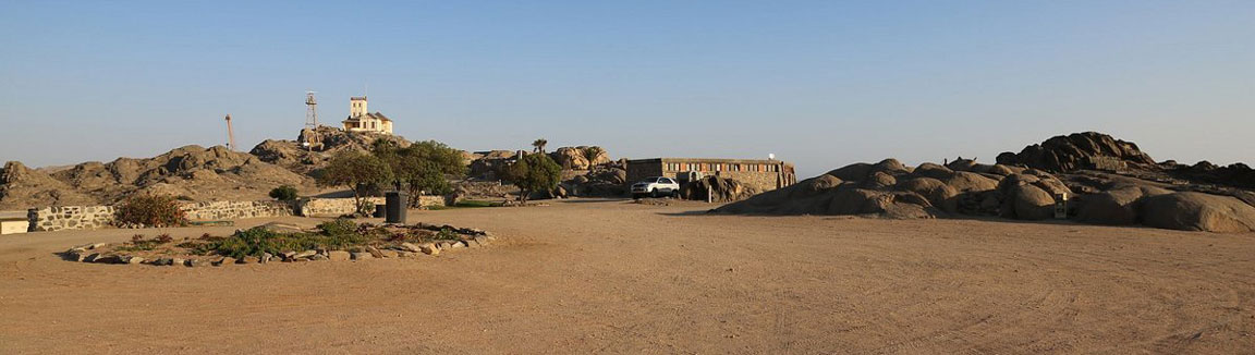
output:
<instances>
[{"instance_id":1,"label":"leafy tree directly behind the dark bin, leftmost of the trees","mask_svg":"<svg viewBox=\"0 0 1255 355\"><path fill-rule=\"evenodd\" d=\"M331 157L331 162L318 177L321 186L344 186L353 189L353 202L361 209L361 194L365 187L392 181L392 168L379 157L363 152L343 151ZM363 212L363 211L358 211Z\"/></svg>"}]
</instances>

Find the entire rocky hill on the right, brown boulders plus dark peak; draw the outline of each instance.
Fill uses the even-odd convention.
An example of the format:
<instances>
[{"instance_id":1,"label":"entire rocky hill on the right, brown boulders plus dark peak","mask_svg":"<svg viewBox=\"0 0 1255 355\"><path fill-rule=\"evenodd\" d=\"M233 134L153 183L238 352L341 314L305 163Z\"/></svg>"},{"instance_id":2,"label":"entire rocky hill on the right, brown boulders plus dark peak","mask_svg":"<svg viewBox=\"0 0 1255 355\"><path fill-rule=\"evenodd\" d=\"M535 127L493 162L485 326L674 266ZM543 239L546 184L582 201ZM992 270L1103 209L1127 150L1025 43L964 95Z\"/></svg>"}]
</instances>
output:
<instances>
[{"instance_id":1,"label":"entire rocky hill on the right, brown boulders plus dark peak","mask_svg":"<svg viewBox=\"0 0 1255 355\"><path fill-rule=\"evenodd\" d=\"M1054 137L998 162L856 163L713 212L1048 220L1062 204L1063 218L1084 223L1255 231L1255 192L1234 187L1251 183L1244 164L1160 164L1131 142L1093 132Z\"/></svg>"}]
</instances>

